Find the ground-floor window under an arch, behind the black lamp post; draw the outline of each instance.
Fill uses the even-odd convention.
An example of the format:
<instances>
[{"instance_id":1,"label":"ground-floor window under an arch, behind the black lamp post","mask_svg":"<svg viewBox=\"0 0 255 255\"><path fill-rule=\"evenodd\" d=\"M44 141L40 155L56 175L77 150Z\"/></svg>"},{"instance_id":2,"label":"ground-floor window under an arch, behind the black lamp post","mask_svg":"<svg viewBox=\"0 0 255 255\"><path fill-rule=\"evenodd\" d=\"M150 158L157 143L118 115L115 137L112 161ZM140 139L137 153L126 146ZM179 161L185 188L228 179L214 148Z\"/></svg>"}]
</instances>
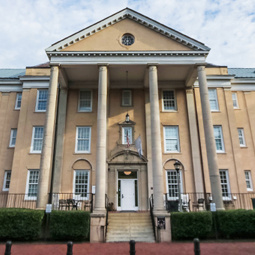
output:
<instances>
[{"instance_id":1,"label":"ground-floor window under an arch, behind the black lamp post","mask_svg":"<svg viewBox=\"0 0 255 255\"><path fill-rule=\"evenodd\" d=\"M178 176L176 170L166 171L167 199L178 199ZM182 173L180 171L180 189L182 193Z\"/></svg>"}]
</instances>

